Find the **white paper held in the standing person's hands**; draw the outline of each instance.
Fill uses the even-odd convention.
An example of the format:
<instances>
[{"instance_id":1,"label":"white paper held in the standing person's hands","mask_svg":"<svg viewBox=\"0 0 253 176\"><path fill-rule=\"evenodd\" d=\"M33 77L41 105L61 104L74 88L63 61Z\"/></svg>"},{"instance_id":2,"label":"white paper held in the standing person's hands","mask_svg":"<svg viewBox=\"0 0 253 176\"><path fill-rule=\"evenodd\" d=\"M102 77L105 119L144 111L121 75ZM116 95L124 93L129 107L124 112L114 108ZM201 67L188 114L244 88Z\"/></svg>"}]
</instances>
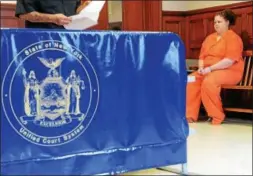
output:
<instances>
[{"instance_id":1,"label":"white paper held in the standing person's hands","mask_svg":"<svg viewBox=\"0 0 253 176\"><path fill-rule=\"evenodd\" d=\"M79 14L71 16L71 23L64 25L65 29L83 30L98 23L100 11L105 1L91 1Z\"/></svg>"}]
</instances>

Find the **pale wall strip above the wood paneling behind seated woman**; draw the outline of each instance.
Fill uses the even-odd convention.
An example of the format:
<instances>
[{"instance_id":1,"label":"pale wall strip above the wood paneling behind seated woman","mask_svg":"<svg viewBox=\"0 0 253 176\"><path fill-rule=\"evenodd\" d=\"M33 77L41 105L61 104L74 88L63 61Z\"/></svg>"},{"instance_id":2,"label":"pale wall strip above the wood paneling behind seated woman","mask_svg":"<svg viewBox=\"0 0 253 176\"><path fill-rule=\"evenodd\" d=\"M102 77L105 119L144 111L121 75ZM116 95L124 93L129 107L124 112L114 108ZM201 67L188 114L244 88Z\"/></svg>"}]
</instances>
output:
<instances>
[{"instance_id":1,"label":"pale wall strip above the wood paneling behind seated woman","mask_svg":"<svg viewBox=\"0 0 253 176\"><path fill-rule=\"evenodd\" d=\"M244 0L250 1L250 0ZM167 1L162 2L162 9L167 11L188 11L220 5L239 3L244 1Z\"/></svg>"}]
</instances>

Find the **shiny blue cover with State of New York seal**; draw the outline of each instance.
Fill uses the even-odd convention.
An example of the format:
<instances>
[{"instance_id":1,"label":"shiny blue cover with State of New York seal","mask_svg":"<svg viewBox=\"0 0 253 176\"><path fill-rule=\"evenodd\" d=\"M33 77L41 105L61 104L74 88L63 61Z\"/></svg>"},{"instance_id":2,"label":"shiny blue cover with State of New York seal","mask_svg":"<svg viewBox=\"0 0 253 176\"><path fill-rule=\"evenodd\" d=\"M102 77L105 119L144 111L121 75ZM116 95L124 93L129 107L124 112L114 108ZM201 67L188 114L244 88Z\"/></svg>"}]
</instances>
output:
<instances>
[{"instance_id":1,"label":"shiny blue cover with State of New York seal","mask_svg":"<svg viewBox=\"0 0 253 176\"><path fill-rule=\"evenodd\" d=\"M1 29L1 174L186 163L186 83L174 33Z\"/></svg>"}]
</instances>

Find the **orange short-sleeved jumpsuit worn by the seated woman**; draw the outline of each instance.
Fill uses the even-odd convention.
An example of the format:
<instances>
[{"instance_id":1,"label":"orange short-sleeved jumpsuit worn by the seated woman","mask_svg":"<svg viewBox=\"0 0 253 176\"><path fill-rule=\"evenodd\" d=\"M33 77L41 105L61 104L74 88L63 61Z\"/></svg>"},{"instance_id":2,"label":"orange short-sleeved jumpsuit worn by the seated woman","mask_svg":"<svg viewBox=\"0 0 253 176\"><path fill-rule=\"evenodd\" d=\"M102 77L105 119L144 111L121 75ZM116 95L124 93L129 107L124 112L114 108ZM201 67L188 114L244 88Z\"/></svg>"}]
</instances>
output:
<instances>
[{"instance_id":1,"label":"orange short-sleeved jumpsuit worn by the seated woman","mask_svg":"<svg viewBox=\"0 0 253 176\"><path fill-rule=\"evenodd\" d=\"M234 60L234 64L226 69L214 70L206 75L194 72L195 82L187 84L186 117L188 121L197 121L201 101L211 117L212 124L220 124L225 114L222 108L220 91L222 85L236 85L240 82L244 62L242 59L243 43L241 38L232 30L228 30L217 41L217 33L209 35L202 44L200 58L204 67L211 66L224 58Z\"/></svg>"}]
</instances>

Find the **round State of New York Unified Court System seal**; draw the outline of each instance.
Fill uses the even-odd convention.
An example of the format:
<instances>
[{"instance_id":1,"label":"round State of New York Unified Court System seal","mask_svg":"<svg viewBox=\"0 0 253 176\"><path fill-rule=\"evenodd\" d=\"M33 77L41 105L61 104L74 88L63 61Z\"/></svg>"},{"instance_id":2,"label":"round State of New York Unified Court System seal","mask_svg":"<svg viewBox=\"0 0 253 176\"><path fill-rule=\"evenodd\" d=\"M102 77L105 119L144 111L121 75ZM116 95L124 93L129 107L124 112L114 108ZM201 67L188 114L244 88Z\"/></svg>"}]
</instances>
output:
<instances>
[{"instance_id":1,"label":"round State of New York Unified Court System seal","mask_svg":"<svg viewBox=\"0 0 253 176\"><path fill-rule=\"evenodd\" d=\"M78 138L99 103L98 78L90 60L78 48L56 40L20 51L4 75L1 92L12 128L42 146Z\"/></svg>"}]
</instances>

